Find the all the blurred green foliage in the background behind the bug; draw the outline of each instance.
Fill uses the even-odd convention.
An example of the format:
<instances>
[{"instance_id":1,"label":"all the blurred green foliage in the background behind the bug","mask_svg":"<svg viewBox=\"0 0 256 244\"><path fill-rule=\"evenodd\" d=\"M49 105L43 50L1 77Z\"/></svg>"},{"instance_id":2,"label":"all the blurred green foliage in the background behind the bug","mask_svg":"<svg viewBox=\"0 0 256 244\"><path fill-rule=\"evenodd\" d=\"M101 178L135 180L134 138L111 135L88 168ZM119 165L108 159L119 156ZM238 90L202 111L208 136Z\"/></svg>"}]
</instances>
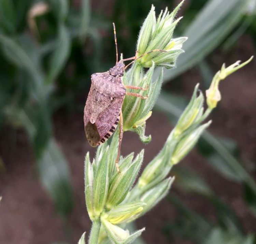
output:
<instances>
[{"instance_id":1,"label":"all the blurred green foliage in the background behind the bug","mask_svg":"<svg viewBox=\"0 0 256 244\"><path fill-rule=\"evenodd\" d=\"M172 9L176 2L122 0L113 4L104 1L97 6L96 1L93 11L89 0L42 2L47 10L29 18L39 1L0 0L0 128L4 124L25 128L34 148L39 179L58 212L66 216L72 210L73 197L68 163L53 136L54 112L60 108L81 112L90 75L107 70L115 63L113 21L118 49L127 58L135 53L138 31L151 4L160 11L166 6ZM165 71L165 81L198 65L202 79L207 82L212 77L211 62L208 62L211 56L207 55L215 48L220 47L224 52L232 50L244 33L251 36L255 45L255 5L255 0L187 0L181 14L184 18L175 30L177 36L189 37L184 45L186 52L178 60L176 69ZM168 93L158 100L158 107L171 118L179 115L184 102L183 98L175 98ZM243 185L244 201L256 214L255 181L233 153L234 147L230 147L233 143L228 142L205 133L198 149L220 174ZM180 234L195 243L224 243L223 240L253 243L253 238L245 237L241 231L236 214L199 176L177 168L177 175L179 173L189 175L180 179L190 182L177 180L177 184L210 199L217 209L218 221L210 223L173 196L170 201L185 218L168 225L168 233L184 230ZM189 231L185 233L186 223L191 226L187 226Z\"/></svg>"}]
</instances>

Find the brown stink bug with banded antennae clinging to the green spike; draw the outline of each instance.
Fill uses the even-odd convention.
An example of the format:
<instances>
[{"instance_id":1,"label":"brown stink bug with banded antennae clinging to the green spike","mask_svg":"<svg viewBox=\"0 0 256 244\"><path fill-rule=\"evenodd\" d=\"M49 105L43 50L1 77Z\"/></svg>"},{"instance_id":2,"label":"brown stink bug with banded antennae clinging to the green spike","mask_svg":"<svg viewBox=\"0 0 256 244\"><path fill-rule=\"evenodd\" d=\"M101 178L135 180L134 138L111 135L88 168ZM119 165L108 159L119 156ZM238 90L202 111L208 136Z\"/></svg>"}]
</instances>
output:
<instances>
[{"instance_id":1,"label":"brown stink bug with banded antennae clinging to the green spike","mask_svg":"<svg viewBox=\"0 0 256 244\"><path fill-rule=\"evenodd\" d=\"M84 129L89 144L93 147L96 147L106 142L109 137L111 137L119 123L119 145L115 163L117 171L120 172L118 161L123 138L122 104L124 98L126 95L140 97L142 99L147 98L138 93L126 92L126 89L146 90L147 88L138 86L125 86L122 81L124 70L135 60L146 54L154 51L166 51L155 49L144 53L139 57L137 57L137 51L136 56L118 61L116 30L114 23L113 27L116 48L116 64L113 68L110 68L106 72L95 73L91 75L91 87L84 108ZM133 61L125 66L124 61L129 60Z\"/></svg>"}]
</instances>

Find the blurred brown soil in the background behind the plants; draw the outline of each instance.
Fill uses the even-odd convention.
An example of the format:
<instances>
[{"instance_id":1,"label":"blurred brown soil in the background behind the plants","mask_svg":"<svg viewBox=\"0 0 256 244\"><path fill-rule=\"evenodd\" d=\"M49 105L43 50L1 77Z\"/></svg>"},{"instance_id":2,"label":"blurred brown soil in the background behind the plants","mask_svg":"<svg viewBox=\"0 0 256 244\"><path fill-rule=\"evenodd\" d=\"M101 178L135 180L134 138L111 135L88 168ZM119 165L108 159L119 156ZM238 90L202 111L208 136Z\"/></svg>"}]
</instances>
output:
<instances>
[{"instance_id":1,"label":"blurred brown soil in the background behind the plants","mask_svg":"<svg viewBox=\"0 0 256 244\"><path fill-rule=\"evenodd\" d=\"M245 44L245 45L244 45ZM213 55L215 70L226 61L228 64L237 59L246 60L254 51L250 38L243 37L236 51L225 56ZM210 131L215 135L229 137L238 143L242 159L256 162L256 62L253 61L221 84L222 101L212 114L213 124ZM183 94L189 97L195 84L200 81L196 69L186 72L181 77ZM172 82L168 85L172 88ZM0 176L0 194L3 200L0 207L0 243L1 244L46 244L57 241L76 243L84 231L89 232L90 222L85 207L83 161L86 151L94 155L89 147L83 130L83 114L66 116L58 113L54 118L57 143L64 152L71 170L75 206L68 218L68 227L56 214L53 203L37 180L34 168L32 148L23 131L13 131L6 127L1 132L0 155L6 172ZM155 156L165 142L172 126L165 115L154 112L147 122L147 134L152 135L152 142L143 145L132 133L125 133L122 153L138 152L145 148L144 166ZM15 135L15 136L14 136ZM14 140L15 138L15 140ZM236 211L247 233L256 232L256 219L246 209L242 200L242 189L217 174L207 161L193 150L182 162L193 168L216 192ZM245 165L252 169L256 180L255 164ZM254 173L253 173L254 170ZM192 209L211 219L215 218L214 209L206 200L192 194L182 193L174 187L181 199ZM163 227L168 221L178 216L174 207L163 200L150 213L138 220L137 226L146 226L142 237L148 244L170 243L163 234ZM64 229L68 228L67 231ZM180 239L175 243L188 244Z\"/></svg>"}]
</instances>

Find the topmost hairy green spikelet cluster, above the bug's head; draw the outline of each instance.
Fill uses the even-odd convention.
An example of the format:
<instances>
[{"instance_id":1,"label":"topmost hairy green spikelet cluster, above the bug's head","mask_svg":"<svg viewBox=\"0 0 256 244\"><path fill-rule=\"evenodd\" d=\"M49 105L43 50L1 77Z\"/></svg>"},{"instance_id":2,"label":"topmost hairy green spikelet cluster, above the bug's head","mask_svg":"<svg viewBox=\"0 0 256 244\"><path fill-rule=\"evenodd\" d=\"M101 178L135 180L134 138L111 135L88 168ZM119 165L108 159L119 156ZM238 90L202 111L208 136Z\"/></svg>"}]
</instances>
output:
<instances>
[{"instance_id":1,"label":"topmost hairy green spikelet cluster, above the bug's head","mask_svg":"<svg viewBox=\"0 0 256 244\"><path fill-rule=\"evenodd\" d=\"M186 38L177 38L176 43L175 39L172 39L173 31L177 23L182 19L182 17L179 17L174 20L174 17L177 11L180 9L182 3L183 1L173 10L172 13L169 13L167 8L164 13L161 11L157 21L154 12L154 18L151 18L152 21L154 21L153 28L151 25L152 21L149 21L150 14L153 14L151 10L139 35L138 47L141 46L141 48L138 48L139 56L143 54L144 56L138 59L137 63L139 63L141 66L149 68L152 67L153 62L155 62L156 65L165 66L166 68L175 66L177 57L183 52L182 44L186 41ZM152 29L152 32L143 34L144 30L146 29L146 22L148 22L148 29ZM144 40L144 42L142 42L142 40ZM147 45L145 45L145 43L147 43ZM167 52L159 51L159 49L166 50ZM158 51L152 52L152 50Z\"/></svg>"}]
</instances>

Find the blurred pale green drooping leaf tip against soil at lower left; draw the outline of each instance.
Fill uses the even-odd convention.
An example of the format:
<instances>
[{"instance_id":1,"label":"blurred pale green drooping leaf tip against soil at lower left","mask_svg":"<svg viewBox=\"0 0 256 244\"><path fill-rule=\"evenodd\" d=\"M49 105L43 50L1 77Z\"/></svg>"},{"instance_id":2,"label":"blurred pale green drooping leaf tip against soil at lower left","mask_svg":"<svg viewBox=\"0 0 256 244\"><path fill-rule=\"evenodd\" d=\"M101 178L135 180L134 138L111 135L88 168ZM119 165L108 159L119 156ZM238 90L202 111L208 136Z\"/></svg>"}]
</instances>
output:
<instances>
[{"instance_id":1,"label":"blurred pale green drooping leaf tip against soil at lower left","mask_svg":"<svg viewBox=\"0 0 256 244\"><path fill-rule=\"evenodd\" d=\"M24 111L17 116L26 128L30 140L32 140L36 133L33 118L29 117ZM66 216L73 208L69 168L65 157L53 138L49 139L40 157L37 158L37 166L40 181L54 200L57 211Z\"/></svg>"}]
</instances>

